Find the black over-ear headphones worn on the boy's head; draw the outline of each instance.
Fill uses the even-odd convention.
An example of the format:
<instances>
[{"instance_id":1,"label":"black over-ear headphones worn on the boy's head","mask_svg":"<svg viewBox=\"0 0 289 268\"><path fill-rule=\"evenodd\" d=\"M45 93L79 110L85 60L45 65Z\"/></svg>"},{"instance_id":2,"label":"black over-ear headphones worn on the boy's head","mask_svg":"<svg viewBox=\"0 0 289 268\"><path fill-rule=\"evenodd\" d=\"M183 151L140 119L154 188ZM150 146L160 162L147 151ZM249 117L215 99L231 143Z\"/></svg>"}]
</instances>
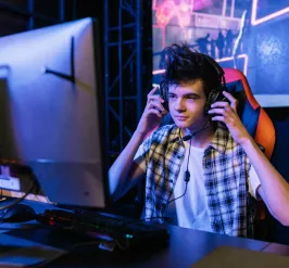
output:
<instances>
[{"instance_id":1,"label":"black over-ear headphones worn on the boy's head","mask_svg":"<svg viewBox=\"0 0 289 268\"><path fill-rule=\"evenodd\" d=\"M225 73L224 69L215 62L215 60L209 55L198 53L201 58L203 58L205 61L208 61L216 71L218 79L219 79L219 86L215 89L212 89L206 98L205 104L204 104L204 113L209 114L209 110L211 109L211 105L214 102L217 101L227 101L227 98L223 95L223 91L227 91L226 87L226 79L225 79ZM202 63L199 63L202 68ZM160 95L165 101L164 105L168 106L168 85L163 80L160 84Z\"/></svg>"}]
</instances>

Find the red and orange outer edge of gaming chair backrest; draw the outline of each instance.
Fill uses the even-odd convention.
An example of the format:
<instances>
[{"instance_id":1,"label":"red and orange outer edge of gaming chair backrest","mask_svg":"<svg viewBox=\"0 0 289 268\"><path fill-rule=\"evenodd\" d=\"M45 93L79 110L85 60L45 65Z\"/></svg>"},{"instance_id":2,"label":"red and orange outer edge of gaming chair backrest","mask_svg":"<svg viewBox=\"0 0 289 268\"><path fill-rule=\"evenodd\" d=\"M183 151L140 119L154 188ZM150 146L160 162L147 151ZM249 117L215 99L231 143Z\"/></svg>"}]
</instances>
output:
<instances>
[{"instance_id":1,"label":"red and orange outer edge of gaming chair backrest","mask_svg":"<svg viewBox=\"0 0 289 268\"><path fill-rule=\"evenodd\" d=\"M252 111L259 113L259 118L256 120L256 126L255 126L255 133L253 138L257 144L264 148L265 155L267 156L268 159L271 159L276 141L276 133L269 116L257 103L243 73L241 73L239 69L236 68L224 68L224 72L225 72L226 82L233 82L237 80L240 80L242 82L247 100ZM244 117L249 116L251 116L250 113L244 115ZM244 122L246 119L248 118L242 118L242 122Z\"/></svg>"}]
</instances>

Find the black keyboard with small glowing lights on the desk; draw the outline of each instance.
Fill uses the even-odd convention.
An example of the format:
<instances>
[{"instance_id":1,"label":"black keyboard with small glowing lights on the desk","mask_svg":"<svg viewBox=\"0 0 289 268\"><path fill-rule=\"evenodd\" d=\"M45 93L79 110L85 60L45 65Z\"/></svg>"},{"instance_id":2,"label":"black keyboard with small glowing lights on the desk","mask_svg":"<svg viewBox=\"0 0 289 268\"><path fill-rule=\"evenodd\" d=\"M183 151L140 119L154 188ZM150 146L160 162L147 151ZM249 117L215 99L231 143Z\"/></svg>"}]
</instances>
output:
<instances>
[{"instance_id":1,"label":"black keyboard with small glowing lights on the desk","mask_svg":"<svg viewBox=\"0 0 289 268\"><path fill-rule=\"evenodd\" d=\"M121 250L162 245L169 240L166 228L160 224L89 210L46 209L37 216L46 226L80 233L118 245Z\"/></svg>"}]
</instances>

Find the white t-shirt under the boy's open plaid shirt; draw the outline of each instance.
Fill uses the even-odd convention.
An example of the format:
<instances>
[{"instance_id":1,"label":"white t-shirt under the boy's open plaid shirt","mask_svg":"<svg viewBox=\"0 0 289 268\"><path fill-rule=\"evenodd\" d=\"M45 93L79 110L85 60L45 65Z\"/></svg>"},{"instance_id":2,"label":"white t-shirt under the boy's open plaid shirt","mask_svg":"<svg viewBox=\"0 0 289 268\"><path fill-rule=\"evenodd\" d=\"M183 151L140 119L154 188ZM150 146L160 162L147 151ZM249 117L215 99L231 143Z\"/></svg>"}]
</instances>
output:
<instances>
[{"instance_id":1,"label":"white t-shirt under the boy's open plaid shirt","mask_svg":"<svg viewBox=\"0 0 289 268\"><path fill-rule=\"evenodd\" d=\"M172 196L171 200L181 196L186 188L184 175L187 170L189 141L184 141L184 143L186 148L186 155L176 181L173 194L174 196ZM186 194L183 197L173 201L168 205L165 216L172 219L172 224L179 227L213 232L204 188L202 166L204 150L205 149L203 148L194 148L191 145L188 165L190 180L187 186ZM260 184L259 177L254 168L251 166L249 173L249 192L253 197L256 197L256 189Z\"/></svg>"}]
</instances>

